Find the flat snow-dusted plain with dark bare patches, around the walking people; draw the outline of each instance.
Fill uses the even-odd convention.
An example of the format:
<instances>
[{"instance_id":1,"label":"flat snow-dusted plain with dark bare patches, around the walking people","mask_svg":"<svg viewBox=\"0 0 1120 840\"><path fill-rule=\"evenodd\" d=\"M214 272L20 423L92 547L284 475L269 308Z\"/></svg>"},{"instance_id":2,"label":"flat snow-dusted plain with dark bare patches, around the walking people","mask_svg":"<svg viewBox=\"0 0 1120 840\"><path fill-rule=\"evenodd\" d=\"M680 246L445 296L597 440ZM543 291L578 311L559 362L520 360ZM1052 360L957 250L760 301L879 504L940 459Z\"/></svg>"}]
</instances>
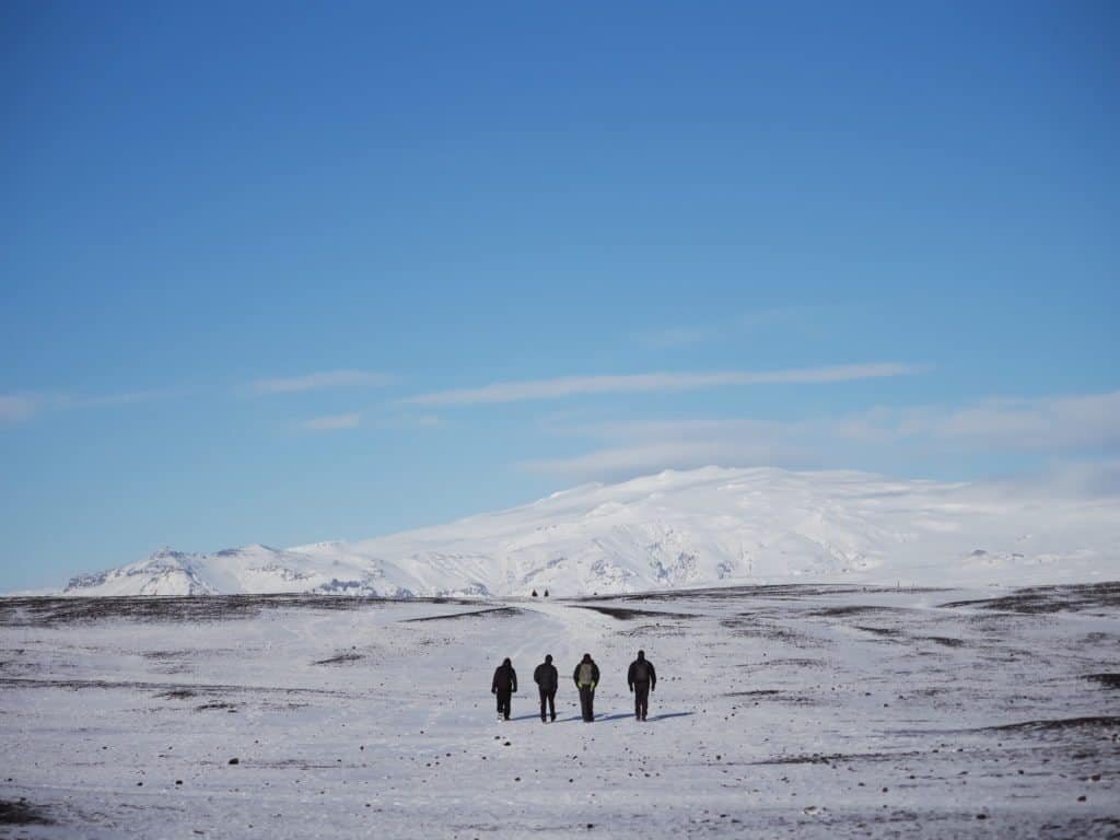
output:
<instances>
[{"instance_id":1,"label":"flat snow-dusted plain with dark bare patches, around the walking people","mask_svg":"<svg viewBox=\"0 0 1120 840\"><path fill-rule=\"evenodd\" d=\"M1117 584L0 599L0 833L1117 837L1118 672Z\"/></svg>"}]
</instances>

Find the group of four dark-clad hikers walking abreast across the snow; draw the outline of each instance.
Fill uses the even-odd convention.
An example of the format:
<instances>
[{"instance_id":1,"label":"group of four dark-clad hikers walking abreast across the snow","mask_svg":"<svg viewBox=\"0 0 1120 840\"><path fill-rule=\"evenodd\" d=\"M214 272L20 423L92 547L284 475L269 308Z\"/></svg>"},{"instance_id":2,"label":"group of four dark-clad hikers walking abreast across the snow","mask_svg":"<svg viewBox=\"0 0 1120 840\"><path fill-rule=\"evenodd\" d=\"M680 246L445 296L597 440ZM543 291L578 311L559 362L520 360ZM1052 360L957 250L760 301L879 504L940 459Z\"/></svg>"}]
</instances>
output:
<instances>
[{"instance_id":1,"label":"group of four dark-clad hikers walking abreast across the snow","mask_svg":"<svg viewBox=\"0 0 1120 840\"><path fill-rule=\"evenodd\" d=\"M590 724L595 720L595 687L599 684L599 666L591 659L591 654L584 654L584 659L576 665L571 679L579 690L579 706L584 712L584 722ZM552 664L551 653L533 671L533 682L536 683L541 696L541 722L545 724L550 720L554 722L560 675L557 666ZM637 652L637 659L631 663L629 671L626 672L626 682L634 694L634 717L638 720L645 720L645 716L650 711L650 692L657 684L657 672L654 671L653 663L645 657L645 651ZM494 680L491 683L491 693L497 697L498 720L510 719L510 699L516 691L517 672L513 670L513 662L505 659L494 671Z\"/></svg>"}]
</instances>

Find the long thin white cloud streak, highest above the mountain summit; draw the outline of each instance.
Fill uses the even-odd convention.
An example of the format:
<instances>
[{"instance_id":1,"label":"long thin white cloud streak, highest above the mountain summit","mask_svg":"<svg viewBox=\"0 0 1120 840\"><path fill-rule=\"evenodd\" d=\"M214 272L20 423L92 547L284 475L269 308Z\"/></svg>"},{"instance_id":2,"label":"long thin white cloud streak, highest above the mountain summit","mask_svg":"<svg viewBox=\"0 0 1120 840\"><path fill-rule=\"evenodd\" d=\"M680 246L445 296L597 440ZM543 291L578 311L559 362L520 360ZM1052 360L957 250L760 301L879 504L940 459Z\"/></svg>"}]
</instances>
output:
<instances>
[{"instance_id":1,"label":"long thin white cloud streak, highest above the mountain summit","mask_svg":"<svg viewBox=\"0 0 1120 840\"><path fill-rule=\"evenodd\" d=\"M562 400L569 396L612 393L666 393L727 385L824 384L853 380L906 376L921 373L921 365L885 362L829 367L801 367L785 371L713 371L693 373L636 373L623 375L560 376L547 380L494 382L480 388L451 389L408 396L416 405L476 405Z\"/></svg>"}]
</instances>

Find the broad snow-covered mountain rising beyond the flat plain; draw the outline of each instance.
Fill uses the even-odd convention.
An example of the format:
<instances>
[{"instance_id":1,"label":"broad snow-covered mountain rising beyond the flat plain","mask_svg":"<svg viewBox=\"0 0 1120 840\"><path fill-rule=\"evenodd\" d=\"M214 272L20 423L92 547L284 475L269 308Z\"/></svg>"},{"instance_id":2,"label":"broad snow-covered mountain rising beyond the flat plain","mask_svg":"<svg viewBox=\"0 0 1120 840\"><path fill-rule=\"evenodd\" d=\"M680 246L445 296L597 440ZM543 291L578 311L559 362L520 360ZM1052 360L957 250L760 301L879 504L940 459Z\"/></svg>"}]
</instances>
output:
<instances>
[{"instance_id":1,"label":"broad snow-covered mountain rising beyond the flat plain","mask_svg":"<svg viewBox=\"0 0 1120 840\"><path fill-rule=\"evenodd\" d=\"M864 473L665 472L361 542L147 560L71 595L503 596L729 584L1120 578L1120 504Z\"/></svg>"}]
</instances>

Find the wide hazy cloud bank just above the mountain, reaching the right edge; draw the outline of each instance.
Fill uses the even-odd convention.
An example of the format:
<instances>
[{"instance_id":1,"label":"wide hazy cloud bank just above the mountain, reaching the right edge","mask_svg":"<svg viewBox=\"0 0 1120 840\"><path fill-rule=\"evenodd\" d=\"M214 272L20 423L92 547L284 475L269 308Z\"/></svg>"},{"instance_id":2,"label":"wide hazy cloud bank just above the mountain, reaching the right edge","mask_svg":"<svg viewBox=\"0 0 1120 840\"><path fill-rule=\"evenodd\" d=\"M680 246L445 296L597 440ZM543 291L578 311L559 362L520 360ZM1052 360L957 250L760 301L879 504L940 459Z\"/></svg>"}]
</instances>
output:
<instances>
[{"instance_id":1,"label":"wide hazy cloud bank just above the mountain, reaching the right edge","mask_svg":"<svg viewBox=\"0 0 1120 840\"><path fill-rule=\"evenodd\" d=\"M669 468L828 467L915 455L1033 451L1051 458L1120 454L1120 391L993 399L961 407L876 408L800 421L708 418L642 422L550 422L554 433L595 442L587 452L523 461L566 478L619 478Z\"/></svg>"}]
</instances>

